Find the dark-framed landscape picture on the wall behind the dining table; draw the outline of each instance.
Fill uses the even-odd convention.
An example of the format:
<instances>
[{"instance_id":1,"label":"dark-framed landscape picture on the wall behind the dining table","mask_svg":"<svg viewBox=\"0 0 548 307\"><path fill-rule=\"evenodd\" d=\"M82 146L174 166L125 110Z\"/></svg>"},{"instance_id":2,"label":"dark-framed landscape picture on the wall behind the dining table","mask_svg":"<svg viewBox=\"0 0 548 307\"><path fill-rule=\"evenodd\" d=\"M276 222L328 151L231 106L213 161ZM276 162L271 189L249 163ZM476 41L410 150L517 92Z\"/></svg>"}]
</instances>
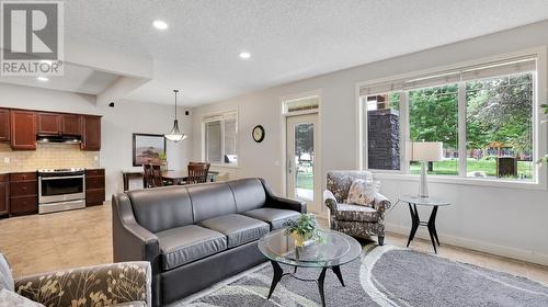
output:
<instances>
[{"instance_id":1,"label":"dark-framed landscape picture on the wall behind the dining table","mask_svg":"<svg viewBox=\"0 0 548 307\"><path fill-rule=\"evenodd\" d=\"M146 163L160 164L161 156L165 152L163 135L134 134L134 167Z\"/></svg>"}]
</instances>

